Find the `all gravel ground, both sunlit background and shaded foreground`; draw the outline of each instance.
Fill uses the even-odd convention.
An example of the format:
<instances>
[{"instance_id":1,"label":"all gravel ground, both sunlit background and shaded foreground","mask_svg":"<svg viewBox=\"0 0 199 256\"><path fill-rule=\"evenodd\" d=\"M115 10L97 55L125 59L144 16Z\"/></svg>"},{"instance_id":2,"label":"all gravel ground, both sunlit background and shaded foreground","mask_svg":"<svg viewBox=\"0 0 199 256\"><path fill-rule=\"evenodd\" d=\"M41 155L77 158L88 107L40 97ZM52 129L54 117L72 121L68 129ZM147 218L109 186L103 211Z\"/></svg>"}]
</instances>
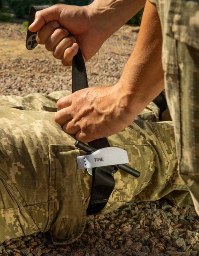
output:
<instances>
[{"instance_id":1,"label":"all gravel ground, both sunlit background and shaded foreground","mask_svg":"<svg viewBox=\"0 0 199 256\"><path fill-rule=\"evenodd\" d=\"M130 56L139 28L124 26L86 64L90 86L115 84ZM29 52L20 24L0 23L0 94L26 95L71 90L71 67L43 46ZM54 246L49 233L0 243L0 256L199 256L199 217L193 206L164 199L128 203L107 215L91 215L81 238Z\"/></svg>"}]
</instances>

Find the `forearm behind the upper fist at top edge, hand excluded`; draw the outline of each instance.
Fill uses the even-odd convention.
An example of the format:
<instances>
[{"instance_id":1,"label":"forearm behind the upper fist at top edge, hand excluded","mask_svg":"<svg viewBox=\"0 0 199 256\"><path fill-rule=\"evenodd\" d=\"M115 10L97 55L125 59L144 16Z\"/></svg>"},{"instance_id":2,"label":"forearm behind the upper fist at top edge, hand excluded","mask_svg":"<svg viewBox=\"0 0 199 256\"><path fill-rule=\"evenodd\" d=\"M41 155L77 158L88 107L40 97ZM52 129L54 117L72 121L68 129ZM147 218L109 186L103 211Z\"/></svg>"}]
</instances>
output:
<instances>
[{"instance_id":1,"label":"forearm behind the upper fist at top edge, hand excluded","mask_svg":"<svg viewBox=\"0 0 199 256\"><path fill-rule=\"evenodd\" d=\"M131 19L143 6L146 0L95 0L89 5L94 23L99 31L110 37Z\"/></svg>"}]
</instances>

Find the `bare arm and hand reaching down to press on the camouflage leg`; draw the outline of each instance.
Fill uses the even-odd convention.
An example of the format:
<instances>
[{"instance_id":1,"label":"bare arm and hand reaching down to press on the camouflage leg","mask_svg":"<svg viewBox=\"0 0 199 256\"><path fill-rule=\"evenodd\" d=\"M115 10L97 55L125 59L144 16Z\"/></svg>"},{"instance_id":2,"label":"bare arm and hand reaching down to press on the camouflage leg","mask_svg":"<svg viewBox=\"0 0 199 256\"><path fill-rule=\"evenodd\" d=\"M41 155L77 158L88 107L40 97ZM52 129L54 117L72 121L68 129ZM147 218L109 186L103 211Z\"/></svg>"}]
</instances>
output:
<instances>
[{"instance_id":1,"label":"bare arm and hand reaching down to press on the camouflage leg","mask_svg":"<svg viewBox=\"0 0 199 256\"><path fill-rule=\"evenodd\" d=\"M57 102L55 121L82 142L122 131L164 88L161 53L159 16L147 2L136 47L119 82L63 97Z\"/></svg>"}]
</instances>

